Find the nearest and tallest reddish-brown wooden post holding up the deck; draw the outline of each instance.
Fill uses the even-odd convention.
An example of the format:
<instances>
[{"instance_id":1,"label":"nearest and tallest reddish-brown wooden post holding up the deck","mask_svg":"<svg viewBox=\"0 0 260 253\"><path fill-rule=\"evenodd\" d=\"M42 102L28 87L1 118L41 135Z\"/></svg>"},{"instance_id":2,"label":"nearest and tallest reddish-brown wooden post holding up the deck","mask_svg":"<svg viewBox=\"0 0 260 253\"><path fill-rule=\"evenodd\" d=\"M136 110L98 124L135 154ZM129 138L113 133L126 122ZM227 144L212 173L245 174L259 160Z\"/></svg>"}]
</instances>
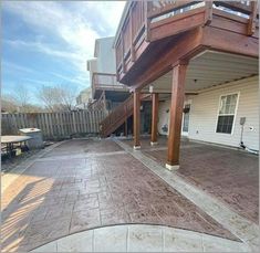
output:
<instances>
[{"instance_id":1,"label":"nearest and tallest reddish-brown wooden post holding up the deck","mask_svg":"<svg viewBox=\"0 0 260 253\"><path fill-rule=\"evenodd\" d=\"M168 156L166 168L179 168L179 146L181 133L183 107L185 97L185 75L187 63L178 63L173 68L173 86L170 103L170 119L168 131Z\"/></svg>"}]
</instances>

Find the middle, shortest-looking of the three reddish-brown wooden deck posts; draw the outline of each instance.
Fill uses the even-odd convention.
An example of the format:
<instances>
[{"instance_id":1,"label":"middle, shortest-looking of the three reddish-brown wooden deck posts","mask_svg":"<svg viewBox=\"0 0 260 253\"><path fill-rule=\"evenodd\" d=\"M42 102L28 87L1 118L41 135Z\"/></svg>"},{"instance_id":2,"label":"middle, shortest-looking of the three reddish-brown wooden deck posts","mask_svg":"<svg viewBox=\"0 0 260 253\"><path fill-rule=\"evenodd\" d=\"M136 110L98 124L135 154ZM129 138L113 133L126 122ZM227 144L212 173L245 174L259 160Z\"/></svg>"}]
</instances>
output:
<instances>
[{"instance_id":1,"label":"middle, shortest-looking of the three reddish-brown wooden deck posts","mask_svg":"<svg viewBox=\"0 0 260 253\"><path fill-rule=\"evenodd\" d=\"M152 94L152 136L150 145L157 144L157 123L158 123L158 105L159 105L159 94Z\"/></svg>"}]
</instances>

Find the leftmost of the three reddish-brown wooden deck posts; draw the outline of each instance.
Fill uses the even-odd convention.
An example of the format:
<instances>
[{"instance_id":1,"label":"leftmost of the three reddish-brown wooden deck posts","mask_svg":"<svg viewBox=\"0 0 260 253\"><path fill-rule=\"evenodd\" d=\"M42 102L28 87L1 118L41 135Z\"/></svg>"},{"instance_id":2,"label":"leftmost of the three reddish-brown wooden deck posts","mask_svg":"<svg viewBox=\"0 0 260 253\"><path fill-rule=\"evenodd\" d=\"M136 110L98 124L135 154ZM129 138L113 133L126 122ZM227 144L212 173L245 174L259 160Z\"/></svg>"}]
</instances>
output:
<instances>
[{"instance_id":1,"label":"leftmost of the three reddish-brown wooden deck posts","mask_svg":"<svg viewBox=\"0 0 260 253\"><path fill-rule=\"evenodd\" d=\"M139 91L134 92L134 149L139 149Z\"/></svg>"}]
</instances>

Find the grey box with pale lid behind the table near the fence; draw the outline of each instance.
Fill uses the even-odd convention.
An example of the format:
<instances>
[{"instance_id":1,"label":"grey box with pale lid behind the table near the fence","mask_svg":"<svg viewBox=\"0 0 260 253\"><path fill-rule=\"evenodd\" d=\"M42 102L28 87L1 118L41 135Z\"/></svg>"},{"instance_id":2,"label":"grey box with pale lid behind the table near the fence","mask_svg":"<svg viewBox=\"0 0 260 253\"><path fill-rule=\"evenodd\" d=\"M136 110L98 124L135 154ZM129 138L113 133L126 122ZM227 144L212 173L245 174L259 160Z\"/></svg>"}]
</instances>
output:
<instances>
[{"instance_id":1,"label":"grey box with pale lid behind the table near the fence","mask_svg":"<svg viewBox=\"0 0 260 253\"><path fill-rule=\"evenodd\" d=\"M28 140L29 149L40 149L43 148L43 139L42 139L42 131L38 128L22 128L19 129L21 135L32 137Z\"/></svg>"}]
</instances>

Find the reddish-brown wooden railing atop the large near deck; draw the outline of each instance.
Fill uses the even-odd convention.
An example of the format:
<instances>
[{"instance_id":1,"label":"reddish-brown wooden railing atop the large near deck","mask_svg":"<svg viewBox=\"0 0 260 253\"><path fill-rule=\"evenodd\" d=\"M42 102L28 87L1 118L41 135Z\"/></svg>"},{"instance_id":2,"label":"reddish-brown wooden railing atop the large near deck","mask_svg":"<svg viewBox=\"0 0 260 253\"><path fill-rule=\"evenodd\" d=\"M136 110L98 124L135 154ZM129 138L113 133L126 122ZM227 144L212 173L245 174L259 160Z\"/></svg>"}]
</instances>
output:
<instances>
[{"instance_id":1,"label":"reddish-brown wooden railing atop the large near deck","mask_svg":"<svg viewBox=\"0 0 260 253\"><path fill-rule=\"evenodd\" d=\"M119 74L127 72L126 66L136 61L136 52L144 40L150 41L149 33L153 28L167 19L191 14L196 9L205 11L205 23L211 21L212 9L228 12L231 18L239 15L248 19L248 35L253 34L258 23L258 1L133 1L115 42L117 80Z\"/></svg>"}]
</instances>

